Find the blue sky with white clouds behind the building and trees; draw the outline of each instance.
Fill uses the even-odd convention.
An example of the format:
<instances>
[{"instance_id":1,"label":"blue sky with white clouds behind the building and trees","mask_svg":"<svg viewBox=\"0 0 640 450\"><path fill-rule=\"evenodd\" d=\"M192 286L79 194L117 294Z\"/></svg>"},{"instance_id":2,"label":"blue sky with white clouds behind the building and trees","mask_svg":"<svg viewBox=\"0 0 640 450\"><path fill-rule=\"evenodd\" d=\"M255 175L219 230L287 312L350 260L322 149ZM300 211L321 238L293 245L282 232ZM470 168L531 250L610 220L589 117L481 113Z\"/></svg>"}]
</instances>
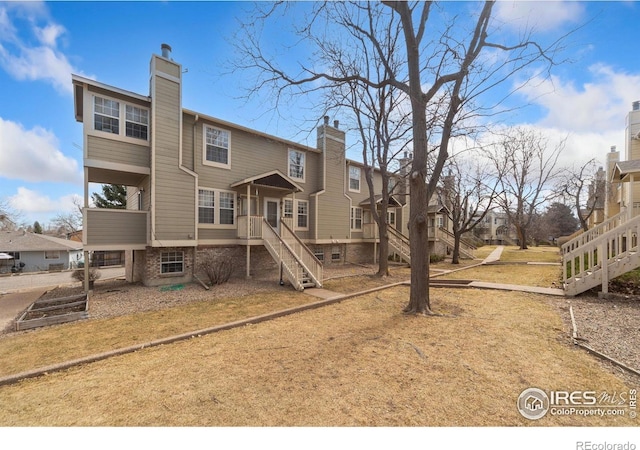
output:
<instances>
[{"instance_id":1,"label":"blue sky with white clouds behind the building and trees","mask_svg":"<svg viewBox=\"0 0 640 450\"><path fill-rule=\"evenodd\" d=\"M188 70L184 107L314 145L312 125L290 127L302 113L274 115L268 98L246 102L239 98L242 74L225 69L236 17L250 6L0 2L0 201L20 212L25 223L47 224L72 210L83 187L82 125L74 119L71 74L147 94L150 56L165 42ZM586 24L569 40L572 63L513 99L528 106L511 115L511 123L569 136L566 164L593 157L602 163L612 145L624 150L625 116L640 100L640 3L505 1L496 14L514 32L526 19L547 36ZM271 37L273 44L286 38L284 32Z\"/></svg>"}]
</instances>

